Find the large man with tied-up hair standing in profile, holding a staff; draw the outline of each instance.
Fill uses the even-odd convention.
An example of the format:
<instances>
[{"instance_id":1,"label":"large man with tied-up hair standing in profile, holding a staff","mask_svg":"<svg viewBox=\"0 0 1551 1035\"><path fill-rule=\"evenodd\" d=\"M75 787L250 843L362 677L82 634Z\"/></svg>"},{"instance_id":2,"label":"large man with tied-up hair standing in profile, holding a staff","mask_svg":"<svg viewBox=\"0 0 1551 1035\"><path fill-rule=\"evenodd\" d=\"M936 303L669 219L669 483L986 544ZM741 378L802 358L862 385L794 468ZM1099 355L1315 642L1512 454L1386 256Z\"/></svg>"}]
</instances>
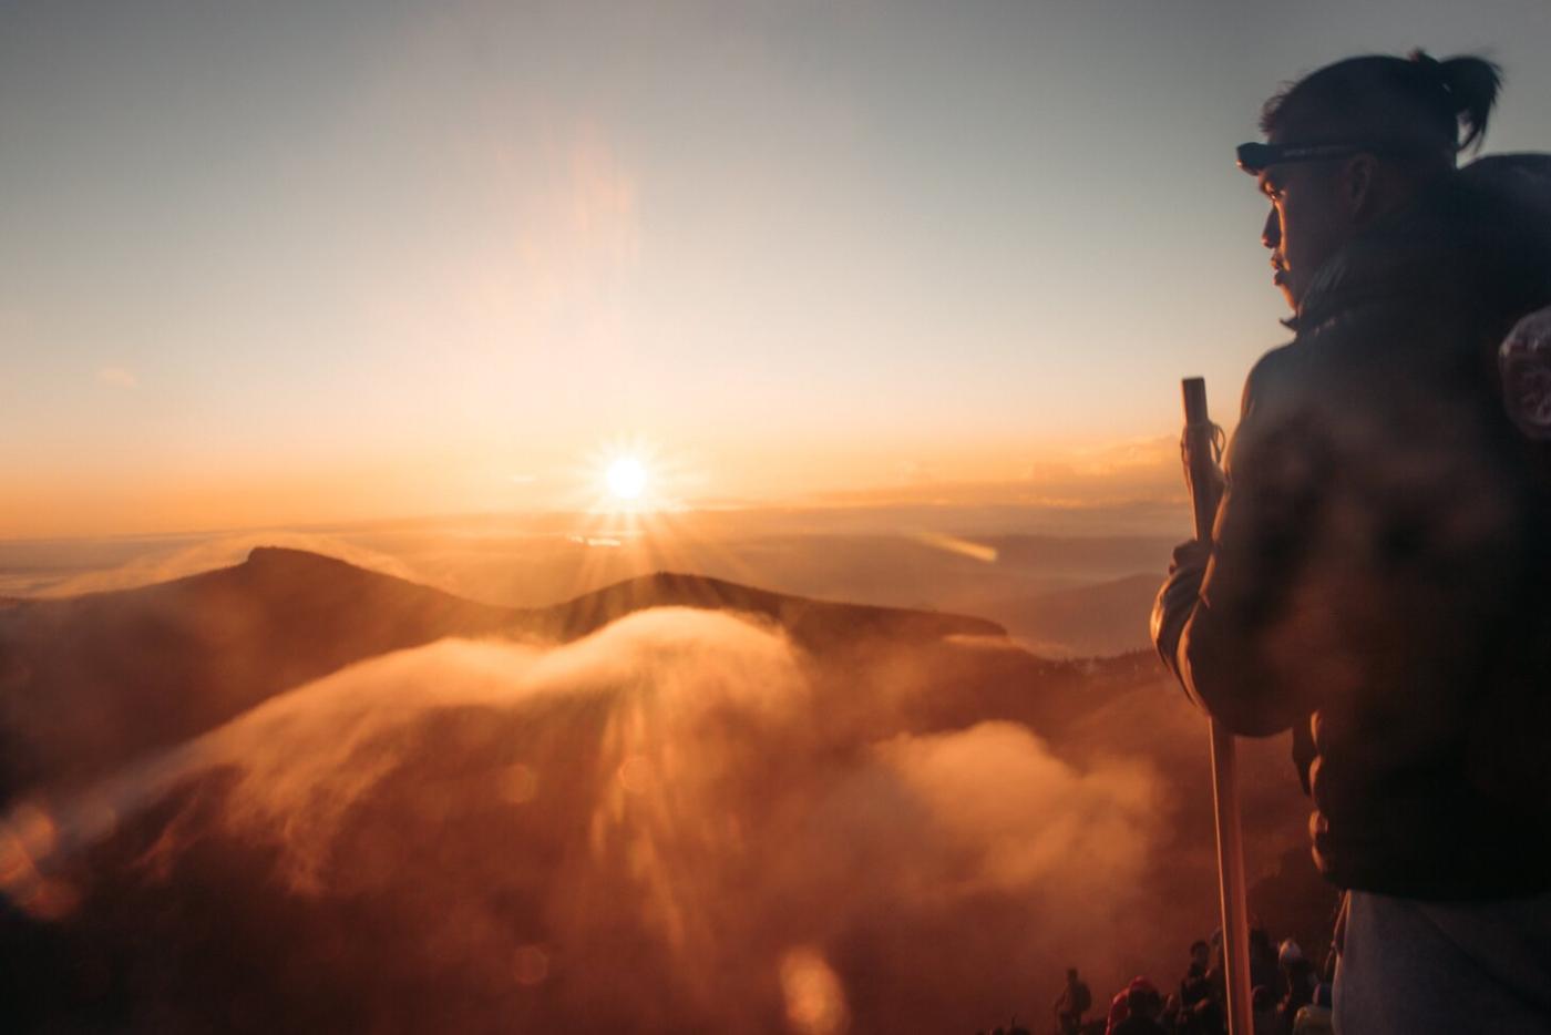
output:
<instances>
[{"instance_id":1,"label":"large man with tied-up hair standing in profile, holding a staff","mask_svg":"<svg viewBox=\"0 0 1551 1035\"><path fill-rule=\"evenodd\" d=\"M1297 337L1154 610L1199 704L1294 729L1348 1035L1551 1027L1551 479L1497 371L1551 304L1551 160L1456 168L1498 84L1354 57L1266 104L1239 164Z\"/></svg>"}]
</instances>

